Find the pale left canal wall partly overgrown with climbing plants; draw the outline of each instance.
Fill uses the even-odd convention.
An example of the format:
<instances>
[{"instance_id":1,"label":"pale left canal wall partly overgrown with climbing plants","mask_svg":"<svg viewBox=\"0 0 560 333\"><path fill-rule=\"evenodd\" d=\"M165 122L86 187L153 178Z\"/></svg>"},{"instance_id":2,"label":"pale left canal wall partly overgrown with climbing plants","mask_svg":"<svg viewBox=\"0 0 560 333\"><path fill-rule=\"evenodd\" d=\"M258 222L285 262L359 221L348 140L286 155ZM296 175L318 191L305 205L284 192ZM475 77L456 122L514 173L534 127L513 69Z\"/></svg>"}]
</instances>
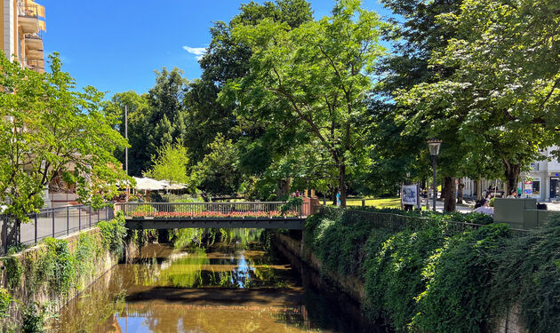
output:
<instances>
[{"instance_id":1,"label":"pale left canal wall partly overgrown with climbing plants","mask_svg":"<svg viewBox=\"0 0 560 333\"><path fill-rule=\"evenodd\" d=\"M119 217L0 258L0 332L44 331L54 313L118 263L125 237Z\"/></svg>"}]
</instances>

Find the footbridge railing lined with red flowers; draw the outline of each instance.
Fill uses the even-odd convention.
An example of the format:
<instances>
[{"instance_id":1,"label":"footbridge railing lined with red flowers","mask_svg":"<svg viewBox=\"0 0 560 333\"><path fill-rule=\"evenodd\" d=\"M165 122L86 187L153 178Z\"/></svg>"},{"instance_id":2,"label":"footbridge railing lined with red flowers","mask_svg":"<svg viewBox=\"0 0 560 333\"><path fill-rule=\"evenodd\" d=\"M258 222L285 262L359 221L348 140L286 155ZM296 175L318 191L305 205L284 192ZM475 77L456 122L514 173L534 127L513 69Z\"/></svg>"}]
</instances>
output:
<instances>
[{"instance_id":1,"label":"footbridge railing lined with red flowers","mask_svg":"<svg viewBox=\"0 0 560 333\"><path fill-rule=\"evenodd\" d=\"M115 210L125 218L301 218L306 205L282 212L285 202L125 202Z\"/></svg>"}]
</instances>

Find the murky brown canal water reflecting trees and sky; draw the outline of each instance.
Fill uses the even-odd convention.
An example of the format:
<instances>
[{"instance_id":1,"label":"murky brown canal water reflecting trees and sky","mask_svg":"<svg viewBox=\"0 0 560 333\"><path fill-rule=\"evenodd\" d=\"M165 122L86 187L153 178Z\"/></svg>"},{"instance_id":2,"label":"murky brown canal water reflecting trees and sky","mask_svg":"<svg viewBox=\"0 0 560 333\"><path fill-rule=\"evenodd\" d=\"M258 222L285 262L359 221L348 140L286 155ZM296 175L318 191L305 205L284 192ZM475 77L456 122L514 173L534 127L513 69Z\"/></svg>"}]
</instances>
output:
<instances>
[{"instance_id":1,"label":"murky brown canal water reflecting trees and sky","mask_svg":"<svg viewBox=\"0 0 560 333\"><path fill-rule=\"evenodd\" d=\"M68 303L53 332L381 332L359 305L252 237L148 244Z\"/></svg>"}]
</instances>

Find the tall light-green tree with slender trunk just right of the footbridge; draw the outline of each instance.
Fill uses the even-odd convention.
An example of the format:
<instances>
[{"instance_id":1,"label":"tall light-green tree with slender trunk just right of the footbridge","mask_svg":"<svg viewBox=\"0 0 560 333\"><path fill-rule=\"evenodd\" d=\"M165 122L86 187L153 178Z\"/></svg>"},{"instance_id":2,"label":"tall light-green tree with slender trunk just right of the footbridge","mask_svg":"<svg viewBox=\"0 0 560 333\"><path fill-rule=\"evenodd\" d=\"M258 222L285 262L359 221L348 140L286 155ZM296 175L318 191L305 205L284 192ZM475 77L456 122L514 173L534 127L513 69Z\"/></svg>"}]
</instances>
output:
<instances>
[{"instance_id":1,"label":"tall light-green tree with slender trunk just right of the footbridge","mask_svg":"<svg viewBox=\"0 0 560 333\"><path fill-rule=\"evenodd\" d=\"M251 70L221 93L226 102L237 100L242 115L297 119L336 165L343 205L348 171L364 155L364 97L382 52L380 19L360 4L337 2L332 17L294 29L269 19L234 28L251 45Z\"/></svg>"}]
</instances>

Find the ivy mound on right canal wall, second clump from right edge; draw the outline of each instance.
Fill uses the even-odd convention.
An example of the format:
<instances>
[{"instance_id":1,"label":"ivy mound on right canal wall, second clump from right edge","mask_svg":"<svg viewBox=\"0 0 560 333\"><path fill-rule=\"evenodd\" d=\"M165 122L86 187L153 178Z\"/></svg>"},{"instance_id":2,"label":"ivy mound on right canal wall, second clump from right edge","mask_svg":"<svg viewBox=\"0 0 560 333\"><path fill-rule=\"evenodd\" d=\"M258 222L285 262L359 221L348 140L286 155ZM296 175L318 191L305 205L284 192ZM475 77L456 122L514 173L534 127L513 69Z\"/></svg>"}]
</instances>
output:
<instances>
[{"instance_id":1,"label":"ivy mound on right canal wall, second clump from right edge","mask_svg":"<svg viewBox=\"0 0 560 333\"><path fill-rule=\"evenodd\" d=\"M458 234L436 250L423 268L427 281L416 297L412 329L428 332L487 332L491 329L492 274L510 230L484 226Z\"/></svg>"}]
</instances>

